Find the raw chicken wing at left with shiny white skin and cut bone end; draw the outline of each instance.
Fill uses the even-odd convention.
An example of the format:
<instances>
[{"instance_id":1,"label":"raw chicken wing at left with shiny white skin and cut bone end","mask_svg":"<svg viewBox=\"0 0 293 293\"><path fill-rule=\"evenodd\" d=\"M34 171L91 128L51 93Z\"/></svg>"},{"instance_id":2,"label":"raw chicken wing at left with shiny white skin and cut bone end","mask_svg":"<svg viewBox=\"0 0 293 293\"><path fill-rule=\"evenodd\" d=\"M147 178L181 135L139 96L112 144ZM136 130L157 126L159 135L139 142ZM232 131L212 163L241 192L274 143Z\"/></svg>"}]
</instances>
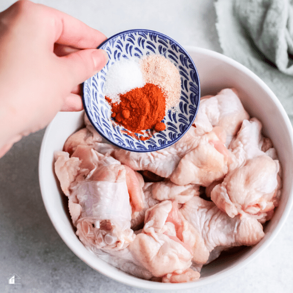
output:
<instances>
[{"instance_id":1,"label":"raw chicken wing at left with shiny white skin and cut bone end","mask_svg":"<svg viewBox=\"0 0 293 293\"><path fill-rule=\"evenodd\" d=\"M115 164L97 170L93 181L82 183L71 195L82 207L76 234L92 251L123 249L134 239L126 169Z\"/></svg>"}]
</instances>

